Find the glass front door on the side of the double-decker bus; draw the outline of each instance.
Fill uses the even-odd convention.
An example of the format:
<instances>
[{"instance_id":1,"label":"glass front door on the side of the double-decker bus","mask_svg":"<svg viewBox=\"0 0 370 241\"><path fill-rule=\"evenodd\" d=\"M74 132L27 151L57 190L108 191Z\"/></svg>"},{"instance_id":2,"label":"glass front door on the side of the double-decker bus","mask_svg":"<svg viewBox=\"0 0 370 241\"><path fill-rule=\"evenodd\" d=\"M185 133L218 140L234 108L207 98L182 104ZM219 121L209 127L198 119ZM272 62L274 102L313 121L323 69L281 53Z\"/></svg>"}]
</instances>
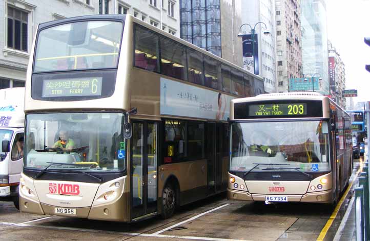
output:
<instances>
[{"instance_id":1,"label":"glass front door on the side of the double-decker bus","mask_svg":"<svg viewBox=\"0 0 370 241\"><path fill-rule=\"evenodd\" d=\"M133 122L131 138L131 219L157 211L158 125Z\"/></svg>"}]
</instances>

